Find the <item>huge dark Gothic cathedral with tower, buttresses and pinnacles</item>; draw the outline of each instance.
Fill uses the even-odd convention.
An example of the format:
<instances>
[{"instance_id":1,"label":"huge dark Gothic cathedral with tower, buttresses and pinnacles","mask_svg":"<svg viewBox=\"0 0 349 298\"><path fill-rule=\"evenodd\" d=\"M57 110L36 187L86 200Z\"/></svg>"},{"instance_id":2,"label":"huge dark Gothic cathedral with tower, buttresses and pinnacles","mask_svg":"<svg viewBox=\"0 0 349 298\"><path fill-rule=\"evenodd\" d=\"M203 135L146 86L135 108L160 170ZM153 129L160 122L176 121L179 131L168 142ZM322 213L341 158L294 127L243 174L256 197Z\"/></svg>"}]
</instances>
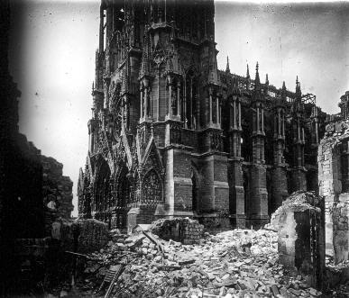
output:
<instances>
[{"instance_id":1,"label":"huge dark Gothic cathedral with tower, buttresses and pinnacles","mask_svg":"<svg viewBox=\"0 0 349 298\"><path fill-rule=\"evenodd\" d=\"M316 96L261 81L258 63L219 70L214 17L213 0L102 0L79 217L258 228L292 192L318 192Z\"/></svg>"}]
</instances>

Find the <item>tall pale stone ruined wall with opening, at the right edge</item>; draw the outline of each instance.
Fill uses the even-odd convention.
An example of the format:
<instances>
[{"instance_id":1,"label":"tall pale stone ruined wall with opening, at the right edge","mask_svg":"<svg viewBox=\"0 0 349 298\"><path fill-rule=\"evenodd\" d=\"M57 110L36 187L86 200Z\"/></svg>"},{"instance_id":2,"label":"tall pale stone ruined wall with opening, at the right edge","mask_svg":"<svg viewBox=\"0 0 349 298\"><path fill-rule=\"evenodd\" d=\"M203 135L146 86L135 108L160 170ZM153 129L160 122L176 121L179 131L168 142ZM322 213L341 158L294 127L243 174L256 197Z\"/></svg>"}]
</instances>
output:
<instances>
[{"instance_id":1,"label":"tall pale stone ruined wall with opening, at the right edge","mask_svg":"<svg viewBox=\"0 0 349 298\"><path fill-rule=\"evenodd\" d=\"M336 262L348 256L349 121L330 123L318 147L319 194L325 197L326 255Z\"/></svg>"}]
</instances>

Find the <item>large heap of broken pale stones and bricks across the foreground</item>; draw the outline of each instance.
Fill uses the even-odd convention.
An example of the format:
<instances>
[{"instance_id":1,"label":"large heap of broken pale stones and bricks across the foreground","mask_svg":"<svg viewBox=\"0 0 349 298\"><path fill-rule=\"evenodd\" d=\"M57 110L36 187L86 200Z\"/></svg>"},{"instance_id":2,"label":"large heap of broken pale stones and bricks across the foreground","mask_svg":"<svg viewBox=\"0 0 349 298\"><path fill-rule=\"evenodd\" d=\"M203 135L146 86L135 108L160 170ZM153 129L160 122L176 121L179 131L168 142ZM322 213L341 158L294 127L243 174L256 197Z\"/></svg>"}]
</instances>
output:
<instances>
[{"instance_id":1,"label":"large heap of broken pale stones and bricks across the foreground","mask_svg":"<svg viewBox=\"0 0 349 298\"><path fill-rule=\"evenodd\" d=\"M278 262L278 237L271 230L229 230L205 234L184 245L156 235L114 235L94 253L84 284L99 285L108 269L124 264L114 297L317 297L301 276L292 277ZM115 242L115 240L117 242ZM97 260L97 261L96 261ZM105 289L106 290L106 289Z\"/></svg>"}]
</instances>

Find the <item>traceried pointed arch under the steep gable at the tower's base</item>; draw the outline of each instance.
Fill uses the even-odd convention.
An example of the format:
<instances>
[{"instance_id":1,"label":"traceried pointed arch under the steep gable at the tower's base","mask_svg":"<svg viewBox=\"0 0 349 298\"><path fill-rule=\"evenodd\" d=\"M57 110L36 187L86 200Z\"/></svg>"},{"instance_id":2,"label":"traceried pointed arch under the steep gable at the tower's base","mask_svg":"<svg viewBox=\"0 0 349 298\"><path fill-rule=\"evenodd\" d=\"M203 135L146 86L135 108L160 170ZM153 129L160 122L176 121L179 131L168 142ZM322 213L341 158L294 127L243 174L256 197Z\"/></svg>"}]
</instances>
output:
<instances>
[{"instance_id":1,"label":"traceried pointed arch under the steep gable at the tower's base","mask_svg":"<svg viewBox=\"0 0 349 298\"><path fill-rule=\"evenodd\" d=\"M151 169L142 182L142 202L147 204L162 203L161 180L154 169Z\"/></svg>"}]
</instances>

